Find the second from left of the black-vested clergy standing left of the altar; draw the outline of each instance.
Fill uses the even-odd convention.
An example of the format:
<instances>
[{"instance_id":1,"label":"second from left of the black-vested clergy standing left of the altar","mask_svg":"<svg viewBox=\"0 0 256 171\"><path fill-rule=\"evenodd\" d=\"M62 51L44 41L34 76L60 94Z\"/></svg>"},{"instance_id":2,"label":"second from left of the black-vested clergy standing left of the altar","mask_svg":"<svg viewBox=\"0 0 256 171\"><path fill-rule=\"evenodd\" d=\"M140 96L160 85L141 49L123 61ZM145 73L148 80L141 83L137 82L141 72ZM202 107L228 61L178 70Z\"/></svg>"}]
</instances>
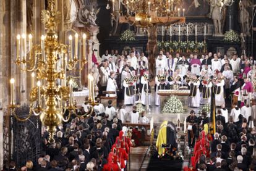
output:
<instances>
[{"instance_id":1,"label":"second from left of the black-vested clergy standing left of the altar","mask_svg":"<svg viewBox=\"0 0 256 171\"><path fill-rule=\"evenodd\" d=\"M145 70L142 78L140 78L140 83L142 83L142 104L146 105L147 102L150 105L151 102L151 88L149 85L149 75L148 70ZM148 96L147 96L148 93Z\"/></svg>"}]
</instances>

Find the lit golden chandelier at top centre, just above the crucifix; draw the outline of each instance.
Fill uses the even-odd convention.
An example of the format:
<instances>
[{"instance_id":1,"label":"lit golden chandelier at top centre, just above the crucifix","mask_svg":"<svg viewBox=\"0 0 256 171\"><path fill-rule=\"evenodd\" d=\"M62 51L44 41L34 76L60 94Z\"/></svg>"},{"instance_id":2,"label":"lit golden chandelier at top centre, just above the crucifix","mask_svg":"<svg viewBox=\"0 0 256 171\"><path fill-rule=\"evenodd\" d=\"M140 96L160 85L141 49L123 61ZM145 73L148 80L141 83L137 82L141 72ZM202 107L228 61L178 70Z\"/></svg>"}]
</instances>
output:
<instances>
[{"instance_id":1,"label":"lit golden chandelier at top centre, just above the crucifix","mask_svg":"<svg viewBox=\"0 0 256 171\"><path fill-rule=\"evenodd\" d=\"M126 7L125 15L127 17L135 15L135 22L143 23L142 25L150 25L157 17L181 17L182 0L119 1Z\"/></svg>"}]
</instances>

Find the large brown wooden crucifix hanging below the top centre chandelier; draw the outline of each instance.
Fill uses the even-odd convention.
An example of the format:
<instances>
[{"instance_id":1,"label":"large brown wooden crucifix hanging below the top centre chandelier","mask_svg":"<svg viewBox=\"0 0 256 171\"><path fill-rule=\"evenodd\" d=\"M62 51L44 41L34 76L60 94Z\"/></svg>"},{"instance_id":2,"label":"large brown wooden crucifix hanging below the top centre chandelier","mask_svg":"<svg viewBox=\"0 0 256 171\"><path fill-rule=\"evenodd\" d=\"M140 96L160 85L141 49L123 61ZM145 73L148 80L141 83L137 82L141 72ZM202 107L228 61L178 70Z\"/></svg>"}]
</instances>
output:
<instances>
[{"instance_id":1,"label":"large brown wooden crucifix hanging below the top centre chandelier","mask_svg":"<svg viewBox=\"0 0 256 171\"><path fill-rule=\"evenodd\" d=\"M160 25L171 25L173 23L185 23L185 17L152 17L150 22L145 22L143 20L135 20L135 17L120 17L119 23L129 23L136 27L145 27L148 33L148 70L150 78L154 78L155 72L155 60L158 55L157 46L157 28Z\"/></svg>"}]
</instances>

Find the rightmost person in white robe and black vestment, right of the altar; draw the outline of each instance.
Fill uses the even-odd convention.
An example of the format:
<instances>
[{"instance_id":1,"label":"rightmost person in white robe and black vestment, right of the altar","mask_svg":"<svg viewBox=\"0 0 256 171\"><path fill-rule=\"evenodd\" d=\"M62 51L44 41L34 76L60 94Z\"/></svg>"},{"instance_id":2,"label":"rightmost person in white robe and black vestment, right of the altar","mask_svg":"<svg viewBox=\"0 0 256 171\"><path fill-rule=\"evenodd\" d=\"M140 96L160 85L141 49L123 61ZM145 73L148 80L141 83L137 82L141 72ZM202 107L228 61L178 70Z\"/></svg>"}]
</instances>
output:
<instances>
[{"instance_id":1,"label":"rightmost person in white robe and black vestment, right of the altar","mask_svg":"<svg viewBox=\"0 0 256 171\"><path fill-rule=\"evenodd\" d=\"M218 72L218 77L213 79L213 85L215 86L215 104L216 106L221 106L225 104L224 99L224 85L225 81L221 72Z\"/></svg>"}]
</instances>

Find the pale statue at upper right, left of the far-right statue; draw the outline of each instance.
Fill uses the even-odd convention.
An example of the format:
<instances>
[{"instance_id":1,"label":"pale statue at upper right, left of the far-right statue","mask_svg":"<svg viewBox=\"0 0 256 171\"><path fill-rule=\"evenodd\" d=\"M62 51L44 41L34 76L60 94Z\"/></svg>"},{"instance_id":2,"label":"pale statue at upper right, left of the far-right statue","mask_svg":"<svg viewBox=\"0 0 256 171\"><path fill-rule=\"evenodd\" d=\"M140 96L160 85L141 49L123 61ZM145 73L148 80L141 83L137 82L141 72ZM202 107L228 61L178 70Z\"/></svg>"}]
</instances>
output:
<instances>
[{"instance_id":1,"label":"pale statue at upper right, left of the far-right statue","mask_svg":"<svg viewBox=\"0 0 256 171\"><path fill-rule=\"evenodd\" d=\"M223 7L220 3L216 3L213 7L211 18L213 19L215 35L223 35Z\"/></svg>"}]
</instances>

